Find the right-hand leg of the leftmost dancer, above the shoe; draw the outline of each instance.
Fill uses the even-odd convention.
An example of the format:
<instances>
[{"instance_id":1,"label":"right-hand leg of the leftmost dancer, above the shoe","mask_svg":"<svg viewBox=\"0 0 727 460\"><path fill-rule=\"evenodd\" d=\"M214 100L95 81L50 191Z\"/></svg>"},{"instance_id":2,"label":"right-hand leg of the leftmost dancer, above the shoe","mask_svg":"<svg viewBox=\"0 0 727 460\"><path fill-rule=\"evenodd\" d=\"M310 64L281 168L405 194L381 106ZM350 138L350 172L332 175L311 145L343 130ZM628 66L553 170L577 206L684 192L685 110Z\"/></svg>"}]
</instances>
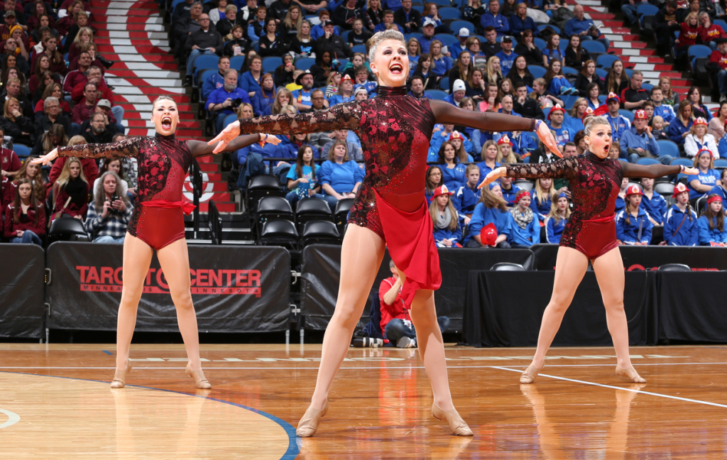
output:
<instances>
[{"instance_id":1,"label":"right-hand leg of the leftmost dancer, above the shoe","mask_svg":"<svg viewBox=\"0 0 727 460\"><path fill-rule=\"evenodd\" d=\"M164 271L164 278L169 285L169 294L177 309L177 323L179 323L182 339L187 349L187 359L192 371L199 374L202 365L199 360L199 334L197 331L197 314L192 304L190 291L189 252L187 240L174 241L169 246L156 251L159 265Z\"/></svg>"}]
</instances>

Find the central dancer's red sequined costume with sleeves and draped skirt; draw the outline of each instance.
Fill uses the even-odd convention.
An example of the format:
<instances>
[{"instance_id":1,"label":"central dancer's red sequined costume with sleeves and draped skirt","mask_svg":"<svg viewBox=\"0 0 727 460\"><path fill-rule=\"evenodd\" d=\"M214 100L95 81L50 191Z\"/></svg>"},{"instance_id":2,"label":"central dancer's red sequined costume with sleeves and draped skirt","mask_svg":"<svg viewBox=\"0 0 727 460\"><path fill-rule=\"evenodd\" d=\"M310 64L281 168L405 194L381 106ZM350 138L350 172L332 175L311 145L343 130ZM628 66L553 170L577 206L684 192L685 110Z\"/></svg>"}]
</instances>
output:
<instances>
[{"instance_id":1,"label":"central dancer's red sequined costume with sleeves and draped skirt","mask_svg":"<svg viewBox=\"0 0 727 460\"><path fill-rule=\"evenodd\" d=\"M396 267L406 274L401 296L410 306L417 289L441 284L425 198L427 150L435 123L493 131L534 129L534 121L527 118L461 110L447 102L411 97L403 86L379 86L374 99L313 113L241 119L240 132L291 135L351 129L358 134L366 177L348 222L369 228L386 241Z\"/></svg>"}]
</instances>

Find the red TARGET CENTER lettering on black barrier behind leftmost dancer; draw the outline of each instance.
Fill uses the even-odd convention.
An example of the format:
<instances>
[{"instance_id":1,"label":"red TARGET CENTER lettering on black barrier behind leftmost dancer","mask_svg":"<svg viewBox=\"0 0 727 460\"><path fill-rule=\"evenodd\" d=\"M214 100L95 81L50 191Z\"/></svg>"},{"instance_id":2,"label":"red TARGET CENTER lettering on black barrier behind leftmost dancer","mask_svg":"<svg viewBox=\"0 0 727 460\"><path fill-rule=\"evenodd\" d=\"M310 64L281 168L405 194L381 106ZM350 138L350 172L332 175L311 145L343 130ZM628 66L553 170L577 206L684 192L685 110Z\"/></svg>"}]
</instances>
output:
<instances>
[{"instance_id":1,"label":"red TARGET CENTER lettering on black barrier behind leftmost dancer","mask_svg":"<svg viewBox=\"0 0 727 460\"><path fill-rule=\"evenodd\" d=\"M121 292L122 267L76 267L80 275L81 291ZM260 270L206 270L190 269L192 294L254 295L260 297ZM168 294L164 272L150 268L144 282L145 294Z\"/></svg>"}]
</instances>

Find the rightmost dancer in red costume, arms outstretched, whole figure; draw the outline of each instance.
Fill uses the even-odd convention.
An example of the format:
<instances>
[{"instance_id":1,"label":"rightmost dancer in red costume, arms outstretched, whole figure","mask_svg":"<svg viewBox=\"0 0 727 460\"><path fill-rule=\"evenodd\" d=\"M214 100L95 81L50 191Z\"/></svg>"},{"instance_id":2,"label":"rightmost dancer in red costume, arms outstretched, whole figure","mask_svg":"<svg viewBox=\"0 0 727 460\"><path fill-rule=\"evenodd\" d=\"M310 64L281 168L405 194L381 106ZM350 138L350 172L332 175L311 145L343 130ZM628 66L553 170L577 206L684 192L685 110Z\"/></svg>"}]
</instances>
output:
<instances>
[{"instance_id":1,"label":"rightmost dancer in red costume, arms outstretched, whole figure","mask_svg":"<svg viewBox=\"0 0 727 460\"><path fill-rule=\"evenodd\" d=\"M694 168L654 164L643 166L608 159L611 125L603 116L587 118L585 156L562 158L548 164L522 164L494 169L479 187L499 177L566 177L573 196L573 212L566 223L555 262L553 296L545 308L533 361L520 377L520 383L535 382L545 364L545 353L561 326L576 288L593 264L606 306L606 322L616 349L616 374L635 383L645 383L631 365L629 331L624 313L624 264L616 242L614 209L623 177L662 177L669 174L698 174Z\"/></svg>"}]
</instances>

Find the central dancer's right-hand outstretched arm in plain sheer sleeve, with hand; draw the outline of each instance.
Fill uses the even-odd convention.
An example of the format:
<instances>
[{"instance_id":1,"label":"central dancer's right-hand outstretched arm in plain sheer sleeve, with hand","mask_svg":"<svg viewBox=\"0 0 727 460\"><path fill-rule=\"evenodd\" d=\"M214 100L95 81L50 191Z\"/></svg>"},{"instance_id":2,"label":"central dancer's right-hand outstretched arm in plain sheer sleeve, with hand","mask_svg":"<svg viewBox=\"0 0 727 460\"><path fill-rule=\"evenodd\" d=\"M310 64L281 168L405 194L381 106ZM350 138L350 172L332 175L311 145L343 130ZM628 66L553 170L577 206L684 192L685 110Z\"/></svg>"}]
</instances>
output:
<instances>
[{"instance_id":1,"label":"central dancer's right-hand outstretched arm in plain sheer sleeve, with hand","mask_svg":"<svg viewBox=\"0 0 727 460\"><path fill-rule=\"evenodd\" d=\"M553 134L542 121L504 113L465 110L441 100L430 101L430 106L437 123L462 125L491 132L534 131L548 150L555 153L555 156L563 156Z\"/></svg>"}]
</instances>

